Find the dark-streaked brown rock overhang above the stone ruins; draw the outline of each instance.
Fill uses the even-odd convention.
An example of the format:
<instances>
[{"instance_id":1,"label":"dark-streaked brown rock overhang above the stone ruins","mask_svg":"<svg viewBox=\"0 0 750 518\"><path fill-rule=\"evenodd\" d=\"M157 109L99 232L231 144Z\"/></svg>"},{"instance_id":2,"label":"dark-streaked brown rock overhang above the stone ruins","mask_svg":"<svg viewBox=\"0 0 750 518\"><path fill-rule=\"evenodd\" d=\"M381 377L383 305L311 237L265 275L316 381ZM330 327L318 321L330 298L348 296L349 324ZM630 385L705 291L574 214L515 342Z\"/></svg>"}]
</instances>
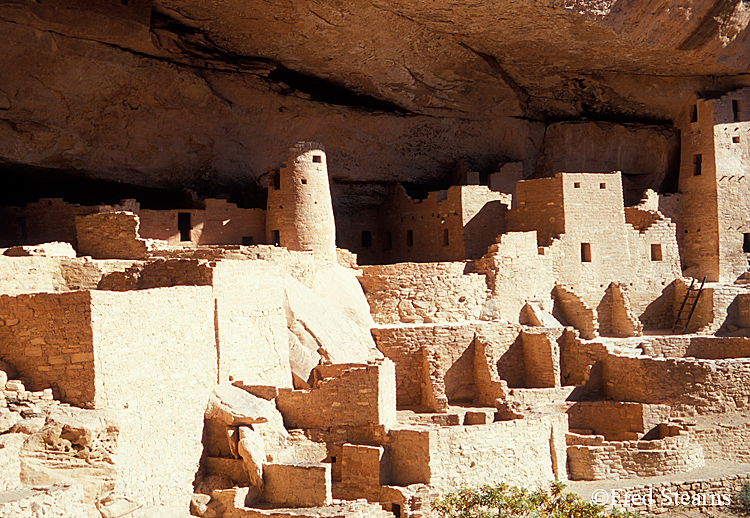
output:
<instances>
[{"instance_id":1,"label":"dark-streaked brown rock overhang above the stone ruins","mask_svg":"<svg viewBox=\"0 0 750 518\"><path fill-rule=\"evenodd\" d=\"M4 0L0 163L233 189L319 140L339 183L531 173L550 121L669 126L750 84L749 22L741 0Z\"/></svg>"}]
</instances>

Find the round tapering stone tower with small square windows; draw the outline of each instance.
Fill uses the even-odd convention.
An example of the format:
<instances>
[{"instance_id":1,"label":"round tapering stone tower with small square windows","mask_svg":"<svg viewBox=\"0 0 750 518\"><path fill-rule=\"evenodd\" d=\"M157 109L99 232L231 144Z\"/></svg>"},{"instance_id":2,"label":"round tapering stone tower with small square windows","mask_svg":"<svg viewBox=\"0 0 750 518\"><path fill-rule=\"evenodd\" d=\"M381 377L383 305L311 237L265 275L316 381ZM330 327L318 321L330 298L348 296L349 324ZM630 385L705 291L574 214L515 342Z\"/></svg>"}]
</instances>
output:
<instances>
[{"instance_id":1,"label":"round tapering stone tower with small square windows","mask_svg":"<svg viewBox=\"0 0 750 518\"><path fill-rule=\"evenodd\" d=\"M311 250L316 259L336 261L336 223L322 144L298 142L289 150L289 160L269 186L266 238L289 250Z\"/></svg>"}]
</instances>

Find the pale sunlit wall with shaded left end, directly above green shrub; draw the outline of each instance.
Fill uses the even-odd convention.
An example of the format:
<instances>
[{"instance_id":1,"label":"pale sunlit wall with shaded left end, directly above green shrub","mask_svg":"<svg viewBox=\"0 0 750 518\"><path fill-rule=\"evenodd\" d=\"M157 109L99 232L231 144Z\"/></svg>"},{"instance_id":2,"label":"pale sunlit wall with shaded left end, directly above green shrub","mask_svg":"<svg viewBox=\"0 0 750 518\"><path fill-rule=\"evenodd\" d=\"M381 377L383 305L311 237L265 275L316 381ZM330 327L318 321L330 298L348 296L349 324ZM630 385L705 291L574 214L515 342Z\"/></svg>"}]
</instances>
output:
<instances>
[{"instance_id":1,"label":"pale sunlit wall with shaded left end, directly above green shrub","mask_svg":"<svg viewBox=\"0 0 750 518\"><path fill-rule=\"evenodd\" d=\"M567 479L564 414L530 415L486 425L391 430L394 484L535 486Z\"/></svg>"}]
</instances>

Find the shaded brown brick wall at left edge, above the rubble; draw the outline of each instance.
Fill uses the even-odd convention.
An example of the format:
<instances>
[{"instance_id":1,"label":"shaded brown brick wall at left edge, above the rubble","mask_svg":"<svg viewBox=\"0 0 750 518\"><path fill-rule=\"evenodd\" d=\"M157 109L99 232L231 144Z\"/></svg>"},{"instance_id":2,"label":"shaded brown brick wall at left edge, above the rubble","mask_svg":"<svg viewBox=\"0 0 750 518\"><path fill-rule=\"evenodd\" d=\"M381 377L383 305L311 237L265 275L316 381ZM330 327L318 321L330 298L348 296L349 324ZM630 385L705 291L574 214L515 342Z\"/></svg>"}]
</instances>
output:
<instances>
[{"instance_id":1,"label":"shaded brown brick wall at left edge, above the rubble","mask_svg":"<svg viewBox=\"0 0 750 518\"><path fill-rule=\"evenodd\" d=\"M31 390L52 387L62 401L93 406L90 293L0 296L0 360L16 367Z\"/></svg>"}]
</instances>

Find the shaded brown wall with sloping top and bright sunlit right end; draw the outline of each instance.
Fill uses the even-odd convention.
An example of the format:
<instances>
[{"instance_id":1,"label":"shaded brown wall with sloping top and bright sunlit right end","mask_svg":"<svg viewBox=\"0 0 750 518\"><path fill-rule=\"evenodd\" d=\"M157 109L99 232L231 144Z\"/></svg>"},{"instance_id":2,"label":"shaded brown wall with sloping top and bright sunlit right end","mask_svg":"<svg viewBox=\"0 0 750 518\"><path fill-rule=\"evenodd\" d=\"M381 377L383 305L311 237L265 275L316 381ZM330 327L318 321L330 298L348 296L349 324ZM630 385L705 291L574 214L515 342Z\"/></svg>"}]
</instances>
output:
<instances>
[{"instance_id":1,"label":"shaded brown wall with sloping top and bright sunlit right end","mask_svg":"<svg viewBox=\"0 0 750 518\"><path fill-rule=\"evenodd\" d=\"M316 388L279 392L276 406L288 428L390 427L395 422L393 362L384 359L344 367L340 375L318 381Z\"/></svg>"}]
</instances>

